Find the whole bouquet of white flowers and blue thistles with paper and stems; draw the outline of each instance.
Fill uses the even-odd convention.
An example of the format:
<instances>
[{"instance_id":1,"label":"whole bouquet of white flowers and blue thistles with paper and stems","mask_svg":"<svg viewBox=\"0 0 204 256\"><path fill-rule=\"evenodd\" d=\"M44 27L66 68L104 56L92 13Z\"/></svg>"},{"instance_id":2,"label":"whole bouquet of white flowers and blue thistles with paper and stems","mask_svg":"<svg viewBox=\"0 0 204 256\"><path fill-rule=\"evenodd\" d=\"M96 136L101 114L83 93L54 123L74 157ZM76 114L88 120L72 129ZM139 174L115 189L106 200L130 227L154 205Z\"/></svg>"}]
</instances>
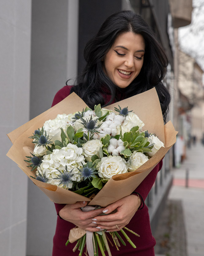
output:
<instances>
[{"instance_id":1,"label":"whole bouquet of white flowers and blue thistles with paper and stems","mask_svg":"<svg viewBox=\"0 0 204 256\"><path fill-rule=\"evenodd\" d=\"M149 110L155 111L156 121L152 121L151 113L148 118L145 117L143 111L141 102L145 104L145 100L150 99L148 93L154 104ZM136 98L140 98L138 108ZM131 109L138 110L138 115L144 117L145 124L133 110L120 107L126 106L127 100ZM177 134L171 122L163 124L155 89L127 100L121 101L118 106L112 104L108 109L98 105L92 111L77 95L71 94L11 132L8 136L13 146L7 155L56 203L90 201L90 205L109 205L136 189L175 143ZM67 102L70 107L68 113ZM147 104L145 106L148 111ZM165 147L161 141L165 142ZM125 231L121 232L129 240ZM75 234L69 236L70 242L79 239L76 246L80 247L80 253L85 233L80 231L77 234L75 230ZM105 247L111 255L104 231L101 235L101 239L97 233L93 236L94 251L98 248L97 241L102 255L105 255ZM117 232L111 233L111 236L116 247L117 238L124 242ZM129 242L135 246L132 241Z\"/></svg>"}]
</instances>

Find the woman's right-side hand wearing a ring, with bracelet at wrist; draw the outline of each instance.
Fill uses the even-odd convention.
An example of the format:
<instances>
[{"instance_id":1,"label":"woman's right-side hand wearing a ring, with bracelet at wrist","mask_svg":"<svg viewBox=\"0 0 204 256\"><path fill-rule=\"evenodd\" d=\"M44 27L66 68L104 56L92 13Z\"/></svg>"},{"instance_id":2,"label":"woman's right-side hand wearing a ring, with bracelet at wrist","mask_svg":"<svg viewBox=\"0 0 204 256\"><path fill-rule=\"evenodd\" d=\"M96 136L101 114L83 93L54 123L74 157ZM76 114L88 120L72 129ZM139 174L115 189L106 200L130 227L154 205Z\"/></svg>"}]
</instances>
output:
<instances>
[{"instance_id":1,"label":"woman's right-side hand wearing a ring, with bracelet at wrist","mask_svg":"<svg viewBox=\"0 0 204 256\"><path fill-rule=\"evenodd\" d=\"M117 209L116 213L97 216L93 218L92 221L97 223L98 228L100 227L101 229L107 229L107 231L111 232L119 231L129 223L139 208L140 204L141 201L138 201L137 195L129 195L127 197L123 197L103 209L103 213L107 214ZM119 229L117 229L116 225Z\"/></svg>"}]
</instances>

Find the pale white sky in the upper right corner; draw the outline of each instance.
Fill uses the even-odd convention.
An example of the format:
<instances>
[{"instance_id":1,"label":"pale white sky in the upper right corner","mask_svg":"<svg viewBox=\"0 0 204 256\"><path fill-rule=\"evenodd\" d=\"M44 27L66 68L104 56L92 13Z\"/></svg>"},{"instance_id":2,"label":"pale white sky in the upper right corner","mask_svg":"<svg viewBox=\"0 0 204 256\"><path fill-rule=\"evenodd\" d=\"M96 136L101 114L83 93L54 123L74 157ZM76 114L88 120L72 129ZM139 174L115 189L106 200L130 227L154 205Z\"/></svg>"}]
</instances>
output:
<instances>
[{"instance_id":1,"label":"pale white sky in the upper right corner","mask_svg":"<svg viewBox=\"0 0 204 256\"><path fill-rule=\"evenodd\" d=\"M191 24L179 28L179 44L204 71L204 0L193 0Z\"/></svg>"}]
</instances>

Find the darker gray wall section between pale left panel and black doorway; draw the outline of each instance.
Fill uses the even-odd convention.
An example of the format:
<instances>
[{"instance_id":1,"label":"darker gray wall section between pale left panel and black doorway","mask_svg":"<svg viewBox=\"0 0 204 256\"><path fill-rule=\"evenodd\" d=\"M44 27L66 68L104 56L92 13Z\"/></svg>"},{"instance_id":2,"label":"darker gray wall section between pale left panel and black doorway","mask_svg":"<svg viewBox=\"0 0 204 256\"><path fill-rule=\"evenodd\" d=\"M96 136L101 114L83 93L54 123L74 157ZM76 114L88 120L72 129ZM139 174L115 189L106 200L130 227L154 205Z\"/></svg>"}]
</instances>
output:
<instances>
[{"instance_id":1,"label":"darker gray wall section between pale left panel and black doorway","mask_svg":"<svg viewBox=\"0 0 204 256\"><path fill-rule=\"evenodd\" d=\"M56 92L76 76L77 53L78 1L34 0L30 118L50 108ZM54 203L29 180L27 255L52 254L56 219Z\"/></svg>"}]
</instances>

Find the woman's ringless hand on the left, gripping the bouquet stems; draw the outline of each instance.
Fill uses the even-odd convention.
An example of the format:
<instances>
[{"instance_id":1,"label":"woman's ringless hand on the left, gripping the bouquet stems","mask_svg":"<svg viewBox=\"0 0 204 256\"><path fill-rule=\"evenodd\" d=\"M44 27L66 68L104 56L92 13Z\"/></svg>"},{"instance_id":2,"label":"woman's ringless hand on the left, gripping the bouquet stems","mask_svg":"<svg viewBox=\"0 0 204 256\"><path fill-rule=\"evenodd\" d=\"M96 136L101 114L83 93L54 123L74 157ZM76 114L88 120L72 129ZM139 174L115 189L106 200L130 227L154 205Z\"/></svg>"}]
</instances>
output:
<instances>
[{"instance_id":1,"label":"woman's ringless hand on the left, gripping the bouquet stems","mask_svg":"<svg viewBox=\"0 0 204 256\"><path fill-rule=\"evenodd\" d=\"M91 232L98 231L99 229L94 228L97 224L92 223L92 219L102 213L101 209L92 210L89 212L83 212L80 208L85 207L87 202L76 202L75 204L67 204L59 211L59 215L66 221L73 223L81 229L85 229Z\"/></svg>"}]
</instances>

